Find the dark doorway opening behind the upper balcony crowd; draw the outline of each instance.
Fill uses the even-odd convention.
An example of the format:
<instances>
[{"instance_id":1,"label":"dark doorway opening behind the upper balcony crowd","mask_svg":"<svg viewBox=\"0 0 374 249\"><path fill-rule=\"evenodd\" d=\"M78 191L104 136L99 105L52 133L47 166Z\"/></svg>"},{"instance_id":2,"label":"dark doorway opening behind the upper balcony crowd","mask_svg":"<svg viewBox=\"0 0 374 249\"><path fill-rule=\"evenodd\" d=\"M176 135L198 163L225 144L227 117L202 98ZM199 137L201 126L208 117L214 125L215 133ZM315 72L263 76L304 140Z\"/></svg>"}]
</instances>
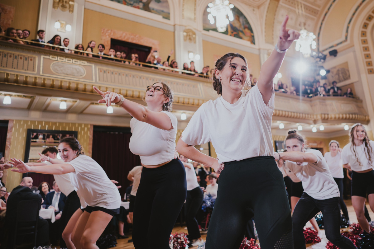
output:
<instances>
[{"instance_id":1,"label":"dark doorway opening behind the upper balcony crowd","mask_svg":"<svg viewBox=\"0 0 374 249\"><path fill-rule=\"evenodd\" d=\"M110 48L120 52L123 50L126 51L126 59L128 60L131 60L131 54L138 54L140 62L145 62L152 50L152 47L116 40L113 38L110 39Z\"/></svg>"}]
</instances>

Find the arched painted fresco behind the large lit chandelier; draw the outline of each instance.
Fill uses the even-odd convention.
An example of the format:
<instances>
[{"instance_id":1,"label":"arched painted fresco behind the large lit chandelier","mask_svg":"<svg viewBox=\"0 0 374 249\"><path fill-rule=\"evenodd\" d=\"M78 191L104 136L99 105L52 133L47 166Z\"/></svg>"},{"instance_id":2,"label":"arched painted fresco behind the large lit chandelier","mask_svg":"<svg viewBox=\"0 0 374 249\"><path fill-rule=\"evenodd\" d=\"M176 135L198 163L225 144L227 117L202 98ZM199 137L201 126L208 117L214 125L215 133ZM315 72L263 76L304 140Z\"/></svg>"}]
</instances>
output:
<instances>
[{"instance_id":1,"label":"arched painted fresco behind the large lit chandelier","mask_svg":"<svg viewBox=\"0 0 374 249\"><path fill-rule=\"evenodd\" d=\"M209 7L206 6L206 9L208 8ZM230 35L232 37L246 40L252 44L255 44L253 29L251 27L251 24L249 24L248 19L235 6L231 10L233 12L234 20L229 21L229 25L227 25L227 30L225 32L222 32L221 34ZM208 14L209 12L205 10L203 14L203 29L206 31L212 30L218 32L216 24L209 23Z\"/></svg>"}]
</instances>

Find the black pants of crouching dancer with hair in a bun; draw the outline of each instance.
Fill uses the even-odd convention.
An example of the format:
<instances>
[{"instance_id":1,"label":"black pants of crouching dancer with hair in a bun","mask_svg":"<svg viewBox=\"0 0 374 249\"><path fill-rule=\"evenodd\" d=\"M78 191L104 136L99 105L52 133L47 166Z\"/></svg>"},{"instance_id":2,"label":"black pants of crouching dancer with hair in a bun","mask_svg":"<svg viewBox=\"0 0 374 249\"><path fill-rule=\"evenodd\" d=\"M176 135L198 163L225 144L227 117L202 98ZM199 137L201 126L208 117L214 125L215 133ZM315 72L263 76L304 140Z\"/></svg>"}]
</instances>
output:
<instances>
[{"instance_id":1,"label":"black pants of crouching dancer with hair in a bun","mask_svg":"<svg viewBox=\"0 0 374 249\"><path fill-rule=\"evenodd\" d=\"M292 225L294 227L294 246L297 249L305 248L303 227L306 222L313 218L319 211L324 216L325 233L327 239L341 249L356 249L352 241L340 234L340 205L339 197L326 200L316 200L303 193L297 202Z\"/></svg>"}]
</instances>

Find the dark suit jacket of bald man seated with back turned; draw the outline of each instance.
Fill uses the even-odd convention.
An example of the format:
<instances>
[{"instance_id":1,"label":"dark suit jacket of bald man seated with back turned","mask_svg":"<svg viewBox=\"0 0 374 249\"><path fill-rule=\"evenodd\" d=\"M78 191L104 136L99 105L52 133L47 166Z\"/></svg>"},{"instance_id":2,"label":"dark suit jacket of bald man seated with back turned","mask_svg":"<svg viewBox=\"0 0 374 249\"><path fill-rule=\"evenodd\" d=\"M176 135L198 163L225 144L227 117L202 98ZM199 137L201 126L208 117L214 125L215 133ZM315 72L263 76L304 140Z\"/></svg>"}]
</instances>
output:
<instances>
[{"instance_id":1,"label":"dark suit jacket of bald man seated with back turned","mask_svg":"<svg viewBox=\"0 0 374 249\"><path fill-rule=\"evenodd\" d=\"M21 200L39 200L40 205L42 205L42 196L40 194L34 193L29 187L17 186L13 189L12 193L9 194L8 200L6 202L6 215L5 223L7 225L15 224L17 217L17 206Z\"/></svg>"}]
</instances>

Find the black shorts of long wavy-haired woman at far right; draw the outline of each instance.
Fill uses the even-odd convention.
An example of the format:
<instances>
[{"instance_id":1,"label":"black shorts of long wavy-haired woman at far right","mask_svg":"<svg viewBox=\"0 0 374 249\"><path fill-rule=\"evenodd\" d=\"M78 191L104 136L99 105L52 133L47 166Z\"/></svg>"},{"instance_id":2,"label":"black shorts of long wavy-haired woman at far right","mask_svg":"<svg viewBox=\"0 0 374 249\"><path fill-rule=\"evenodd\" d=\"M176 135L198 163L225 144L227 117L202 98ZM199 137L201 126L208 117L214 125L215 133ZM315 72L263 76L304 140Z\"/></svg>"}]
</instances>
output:
<instances>
[{"instance_id":1,"label":"black shorts of long wavy-haired woman at far right","mask_svg":"<svg viewBox=\"0 0 374 249\"><path fill-rule=\"evenodd\" d=\"M366 173L352 171L351 196L362 196L374 194L374 170Z\"/></svg>"}]
</instances>

